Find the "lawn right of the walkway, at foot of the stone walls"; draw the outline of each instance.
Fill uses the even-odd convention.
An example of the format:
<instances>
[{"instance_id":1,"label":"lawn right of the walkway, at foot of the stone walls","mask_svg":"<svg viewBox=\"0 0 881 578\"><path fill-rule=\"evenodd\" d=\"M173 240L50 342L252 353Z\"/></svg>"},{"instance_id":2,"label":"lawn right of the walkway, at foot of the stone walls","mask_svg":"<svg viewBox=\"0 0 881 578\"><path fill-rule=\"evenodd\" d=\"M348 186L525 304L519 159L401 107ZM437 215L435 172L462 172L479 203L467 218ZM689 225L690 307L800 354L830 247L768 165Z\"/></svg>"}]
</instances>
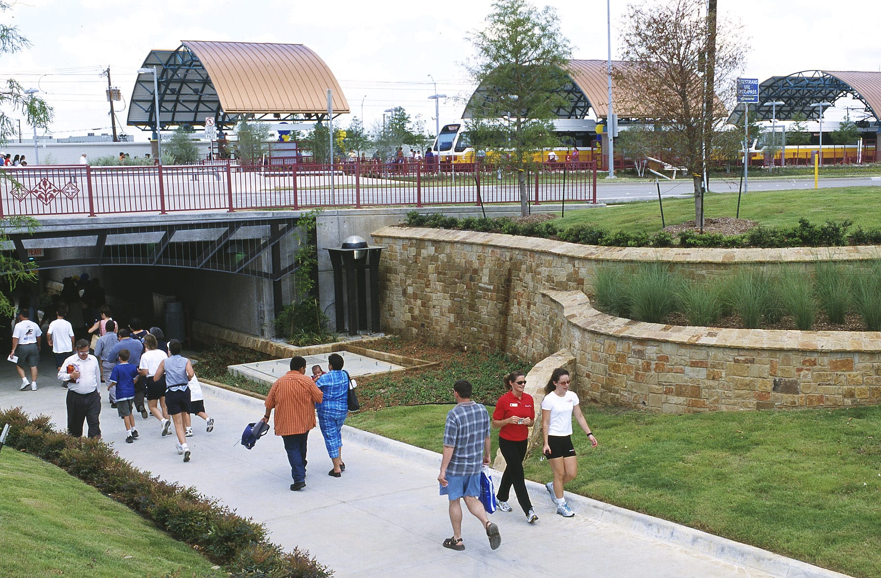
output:
<instances>
[{"instance_id":1,"label":"lawn right of the walkway, at foot of the stone walls","mask_svg":"<svg viewBox=\"0 0 881 578\"><path fill-rule=\"evenodd\" d=\"M440 451L450 407L390 407L347 423ZM853 576L881 575L881 407L583 410L600 445L591 450L575 426L581 467L567 491ZM544 483L551 469L538 457L526 475Z\"/></svg>"}]
</instances>

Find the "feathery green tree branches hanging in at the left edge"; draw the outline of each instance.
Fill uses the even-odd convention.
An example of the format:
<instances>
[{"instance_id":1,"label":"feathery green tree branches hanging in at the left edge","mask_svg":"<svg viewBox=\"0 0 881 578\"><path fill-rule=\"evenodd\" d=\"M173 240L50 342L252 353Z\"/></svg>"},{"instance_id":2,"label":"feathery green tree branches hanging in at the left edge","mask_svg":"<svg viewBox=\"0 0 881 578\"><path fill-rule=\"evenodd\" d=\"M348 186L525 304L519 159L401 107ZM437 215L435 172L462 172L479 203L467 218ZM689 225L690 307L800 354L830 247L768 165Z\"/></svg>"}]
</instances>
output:
<instances>
[{"instance_id":1,"label":"feathery green tree branches hanging in at the left edge","mask_svg":"<svg viewBox=\"0 0 881 578\"><path fill-rule=\"evenodd\" d=\"M10 4L0 0L0 12L10 10ZM31 43L19 33L18 26L8 26L0 23L0 54L13 54L23 48L28 48ZM9 137L14 135L16 128L7 111L18 111L25 115L27 123L33 126L45 128L52 120L52 107L46 101L28 94L24 87L13 78L9 78L0 85L0 145L8 142ZM4 187L13 189L20 188L21 184L16 179L0 170L0 180L5 181ZM9 233L26 230L33 231L37 221L30 216L9 216L0 219L0 245L11 246ZM14 252L0 252L0 274L3 276L3 290L0 291L0 313L12 317L15 307L9 296L11 292L22 282L35 282L37 275L34 272L33 263L17 259Z\"/></svg>"}]
</instances>

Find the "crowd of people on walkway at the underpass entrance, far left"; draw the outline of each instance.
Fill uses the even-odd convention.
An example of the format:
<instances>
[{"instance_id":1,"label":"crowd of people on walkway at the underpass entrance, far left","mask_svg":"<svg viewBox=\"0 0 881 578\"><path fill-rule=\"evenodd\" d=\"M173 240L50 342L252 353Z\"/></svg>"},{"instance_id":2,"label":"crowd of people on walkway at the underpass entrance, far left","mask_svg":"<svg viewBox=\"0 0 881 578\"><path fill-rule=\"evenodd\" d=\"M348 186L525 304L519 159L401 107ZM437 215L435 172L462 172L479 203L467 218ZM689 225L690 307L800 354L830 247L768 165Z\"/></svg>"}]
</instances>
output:
<instances>
[{"instance_id":1,"label":"crowd of people on walkway at the underpass entrance, far left","mask_svg":"<svg viewBox=\"0 0 881 578\"><path fill-rule=\"evenodd\" d=\"M104 304L100 307L100 319L88 328L87 334L93 336L90 343L77 339L74 326L66 319L68 311L67 304L57 305L56 319L49 324L46 339L55 357L56 377L67 390L70 435L83 435L85 422L87 435L100 437L100 389L105 384L110 407L125 425L126 443L134 443L140 437L135 414L140 413L144 420L152 414L159 421L161 437L171 434L174 424L176 450L188 462L191 450L186 438L194 435L190 415L203 418L208 432L214 429L214 419L205 413L201 386L192 363L181 356L180 341L167 341L159 327L144 330L138 318L121 326ZM19 311L19 322L12 332L10 360L17 363L22 379L19 389L30 387L36 391L42 333L30 316L26 309Z\"/></svg>"}]
</instances>

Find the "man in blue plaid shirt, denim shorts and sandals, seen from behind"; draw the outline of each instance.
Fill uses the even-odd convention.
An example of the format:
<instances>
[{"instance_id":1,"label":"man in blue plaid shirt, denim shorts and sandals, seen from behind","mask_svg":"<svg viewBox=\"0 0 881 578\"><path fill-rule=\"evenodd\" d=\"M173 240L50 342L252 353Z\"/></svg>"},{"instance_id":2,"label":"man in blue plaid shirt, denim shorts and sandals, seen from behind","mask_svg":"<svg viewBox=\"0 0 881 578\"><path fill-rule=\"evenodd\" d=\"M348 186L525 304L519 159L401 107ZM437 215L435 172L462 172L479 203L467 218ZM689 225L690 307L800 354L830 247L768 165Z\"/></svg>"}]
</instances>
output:
<instances>
[{"instance_id":1,"label":"man in blue plaid shirt, denim shorts and sandals, seen from behind","mask_svg":"<svg viewBox=\"0 0 881 578\"><path fill-rule=\"evenodd\" d=\"M480 470L490 463L490 416L486 408L471 401L471 384L460 379L453 385L455 407L447 413L447 427L443 434L441 460L441 495L449 499L449 521L453 524L453 538L443 541L445 548L464 550L462 544L462 503L484 524L490 547L501 544L499 527L486 518L480 495Z\"/></svg>"}]
</instances>

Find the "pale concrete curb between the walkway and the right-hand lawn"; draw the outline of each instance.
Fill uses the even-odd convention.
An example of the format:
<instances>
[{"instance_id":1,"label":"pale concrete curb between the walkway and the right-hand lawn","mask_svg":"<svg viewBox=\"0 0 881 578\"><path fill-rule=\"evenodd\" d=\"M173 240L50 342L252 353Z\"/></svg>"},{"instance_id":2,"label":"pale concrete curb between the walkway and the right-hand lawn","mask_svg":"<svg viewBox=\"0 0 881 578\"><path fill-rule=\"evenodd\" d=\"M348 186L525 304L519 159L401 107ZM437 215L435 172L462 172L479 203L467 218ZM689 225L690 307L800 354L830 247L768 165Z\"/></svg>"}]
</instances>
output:
<instances>
[{"instance_id":1,"label":"pale concrete curb between the walkway and the right-hand lawn","mask_svg":"<svg viewBox=\"0 0 881 578\"><path fill-rule=\"evenodd\" d=\"M203 391L211 392L212 397L218 399L236 399L241 402L241 398L245 397L253 403L255 410L263 411L263 403L260 399L243 396L238 391L227 390L211 384L203 384ZM260 409L257 409L258 407ZM435 451L424 450L409 443L398 442L363 429L352 428L352 426L343 426L343 431L345 439L371 450L381 451L426 467L441 467L441 454ZM526 486L531 494L544 494L544 486L538 482L527 479ZM567 494L566 501L578 510L579 516L613 524L648 538L700 552L718 560L780 576L780 578L850 578L847 574L833 572L801 560L794 560L781 554L762 550L756 546L714 536L705 531L695 530L655 516L640 514L640 512L613 506L578 494Z\"/></svg>"}]
</instances>

